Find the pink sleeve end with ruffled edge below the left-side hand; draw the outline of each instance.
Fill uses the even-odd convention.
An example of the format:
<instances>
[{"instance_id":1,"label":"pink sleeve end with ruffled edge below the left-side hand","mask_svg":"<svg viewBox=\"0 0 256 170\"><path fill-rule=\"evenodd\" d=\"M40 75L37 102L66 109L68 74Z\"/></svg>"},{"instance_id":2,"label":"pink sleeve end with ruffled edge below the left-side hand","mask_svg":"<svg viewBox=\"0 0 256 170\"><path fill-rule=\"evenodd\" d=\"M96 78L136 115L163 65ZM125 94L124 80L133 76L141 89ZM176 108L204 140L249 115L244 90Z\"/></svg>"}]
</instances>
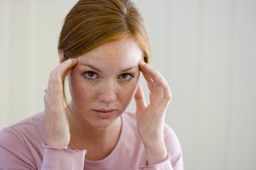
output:
<instances>
[{"instance_id":1,"label":"pink sleeve end with ruffled edge below the left-side hand","mask_svg":"<svg viewBox=\"0 0 256 170\"><path fill-rule=\"evenodd\" d=\"M86 150L68 150L66 148L53 148L42 144L44 157L42 170L47 169L77 169L82 170L85 162Z\"/></svg>"}]
</instances>

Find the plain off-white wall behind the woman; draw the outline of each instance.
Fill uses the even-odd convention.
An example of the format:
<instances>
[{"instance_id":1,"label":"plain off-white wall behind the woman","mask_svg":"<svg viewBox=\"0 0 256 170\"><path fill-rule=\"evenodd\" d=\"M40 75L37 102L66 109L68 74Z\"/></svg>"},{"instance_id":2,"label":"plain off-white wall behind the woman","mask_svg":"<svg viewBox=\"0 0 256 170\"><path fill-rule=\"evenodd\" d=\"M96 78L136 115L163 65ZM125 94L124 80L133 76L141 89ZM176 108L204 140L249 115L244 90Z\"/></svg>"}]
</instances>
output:
<instances>
[{"instance_id":1,"label":"plain off-white wall behind the woman","mask_svg":"<svg viewBox=\"0 0 256 170\"><path fill-rule=\"evenodd\" d=\"M61 23L75 2L0 0L0 129L44 109ZM136 3L152 65L171 86L166 122L185 169L255 169L256 0Z\"/></svg>"}]
</instances>

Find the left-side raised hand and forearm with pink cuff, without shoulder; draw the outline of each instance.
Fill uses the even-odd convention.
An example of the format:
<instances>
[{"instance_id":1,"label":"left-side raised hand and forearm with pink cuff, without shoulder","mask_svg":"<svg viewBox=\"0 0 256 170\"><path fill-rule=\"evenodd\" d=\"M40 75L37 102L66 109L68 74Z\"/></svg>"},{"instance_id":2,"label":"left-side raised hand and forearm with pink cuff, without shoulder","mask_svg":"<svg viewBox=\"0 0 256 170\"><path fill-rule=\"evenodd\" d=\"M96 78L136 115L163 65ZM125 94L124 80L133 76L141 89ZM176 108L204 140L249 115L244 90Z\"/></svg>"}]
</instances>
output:
<instances>
[{"instance_id":1,"label":"left-side raised hand and forearm with pink cuff, without shoulder","mask_svg":"<svg viewBox=\"0 0 256 170\"><path fill-rule=\"evenodd\" d=\"M83 169L86 151L68 150L70 127L63 105L62 83L76 64L76 58L63 61L50 74L44 95L46 145L42 169Z\"/></svg>"}]
</instances>

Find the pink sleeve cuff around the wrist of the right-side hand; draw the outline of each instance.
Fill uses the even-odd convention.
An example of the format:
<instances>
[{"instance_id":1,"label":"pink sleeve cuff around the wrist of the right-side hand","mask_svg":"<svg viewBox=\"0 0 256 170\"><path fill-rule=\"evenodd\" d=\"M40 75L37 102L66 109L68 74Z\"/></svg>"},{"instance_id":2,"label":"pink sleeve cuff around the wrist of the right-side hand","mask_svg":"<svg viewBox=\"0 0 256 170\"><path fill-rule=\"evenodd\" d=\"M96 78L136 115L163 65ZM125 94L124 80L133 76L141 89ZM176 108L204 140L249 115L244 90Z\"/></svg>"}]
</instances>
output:
<instances>
[{"instance_id":1,"label":"pink sleeve cuff around the wrist of the right-side hand","mask_svg":"<svg viewBox=\"0 0 256 170\"><path fill-rule=\"evenodd\" d=\"M171 166L171 154L168 154L167 158L165 160L162 160L162 162L157 163L156 165L150 165L148 166L147 163L144 165L141 165L140 169L143 170L173 170L173 167Z\"/></svg>"}]
</instances>

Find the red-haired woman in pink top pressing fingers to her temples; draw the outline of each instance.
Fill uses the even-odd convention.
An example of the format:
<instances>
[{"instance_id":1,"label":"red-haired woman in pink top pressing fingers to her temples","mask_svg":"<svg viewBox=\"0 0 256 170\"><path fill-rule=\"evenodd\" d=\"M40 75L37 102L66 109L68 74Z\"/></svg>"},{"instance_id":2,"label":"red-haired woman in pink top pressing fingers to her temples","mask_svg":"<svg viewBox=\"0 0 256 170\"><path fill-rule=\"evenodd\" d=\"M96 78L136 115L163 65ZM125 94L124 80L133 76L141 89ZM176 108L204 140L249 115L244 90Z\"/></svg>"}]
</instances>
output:
<instances>
[{"instance_id":1,"label":"red-haired woman in pink top pressing fingers to her temples","mask_svg":"<svg viewBox=\"0 0 256 170\"><path fill-rule=\"evenodd\" d=\"M147 64L147 32L130 0L76 3L58 50L45 111L0 133L0 169L183 169L180 143L164 122L171 92ZM132 97L137 111L125 112Z\"/></svg>"}]
</instances>

